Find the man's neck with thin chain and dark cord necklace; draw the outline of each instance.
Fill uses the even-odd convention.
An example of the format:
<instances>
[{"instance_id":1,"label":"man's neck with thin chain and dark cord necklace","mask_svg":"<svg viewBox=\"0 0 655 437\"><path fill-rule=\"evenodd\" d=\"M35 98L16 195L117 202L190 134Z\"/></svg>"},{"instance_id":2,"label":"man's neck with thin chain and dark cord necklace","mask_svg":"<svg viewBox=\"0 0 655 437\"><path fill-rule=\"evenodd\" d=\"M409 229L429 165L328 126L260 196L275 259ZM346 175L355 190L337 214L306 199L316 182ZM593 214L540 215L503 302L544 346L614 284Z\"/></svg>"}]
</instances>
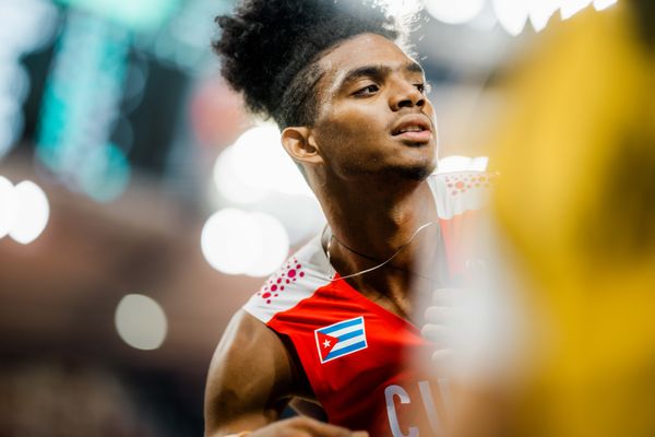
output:
<instances>
[{"instance_id":1,"label":"man's neck with thin chain and dark cord necklace","mask_svg":"<svg viewBox=\"0 0 655 437\"><path fill-rule=\"evenodd\" d=\"M391 299L400 315L409 317L409 294L431 288L432 272L421 271L419 260L438 250L437 211L426 181L403 184L324 185L319 194L332 231L330 256L341 275L379 265L384 268L357 275L348 282L373 298ZM414 237L414 238L413 238ZM400 250L400 251L398 251Z\"/></svg>"}]
</instances>

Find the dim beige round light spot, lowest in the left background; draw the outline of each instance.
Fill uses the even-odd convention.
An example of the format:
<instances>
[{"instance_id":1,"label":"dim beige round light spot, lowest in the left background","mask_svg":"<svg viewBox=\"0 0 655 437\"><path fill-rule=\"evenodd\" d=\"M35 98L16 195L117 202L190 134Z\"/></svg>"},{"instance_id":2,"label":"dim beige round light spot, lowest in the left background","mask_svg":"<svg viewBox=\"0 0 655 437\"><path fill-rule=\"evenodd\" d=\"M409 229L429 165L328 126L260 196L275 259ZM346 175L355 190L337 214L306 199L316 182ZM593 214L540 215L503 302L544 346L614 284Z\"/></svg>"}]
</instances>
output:
<instances>
[{"instance_id":1,"label":"dim beige round light spot, lowest in the left background","mask_svg":"<svg viewBox=\"0 0 655 437\"><path fill-rule=\"evenodd\" d=\"M168 330L168 321L159 304L140 294L129 294L120 300L115 323L122 341L142 351L158 349Z\"/></svg>"}]
</instances>

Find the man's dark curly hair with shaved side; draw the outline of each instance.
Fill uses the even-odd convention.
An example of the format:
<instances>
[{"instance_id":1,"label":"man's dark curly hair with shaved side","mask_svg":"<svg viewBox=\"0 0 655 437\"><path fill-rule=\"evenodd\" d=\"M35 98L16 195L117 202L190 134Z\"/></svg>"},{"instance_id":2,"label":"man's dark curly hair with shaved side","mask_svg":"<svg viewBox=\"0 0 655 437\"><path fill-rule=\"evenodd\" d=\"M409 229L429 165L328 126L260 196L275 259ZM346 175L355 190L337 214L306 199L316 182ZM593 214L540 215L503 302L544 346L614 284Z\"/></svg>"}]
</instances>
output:
<instances>
[{"instance_id":1,"label":"man's dark curly hair with shaved side","mask_svg":"<svg viewBox=\"0 0 655 437\"><path fill-rule=\"evenodd\" d=\"M283 129L313 123L323 73L315 61L329 49L362 33L398 44L407 35L407 25L369 0L245 0L215 21L223 76L251 111Z\"/></svg>"}]
</instances>

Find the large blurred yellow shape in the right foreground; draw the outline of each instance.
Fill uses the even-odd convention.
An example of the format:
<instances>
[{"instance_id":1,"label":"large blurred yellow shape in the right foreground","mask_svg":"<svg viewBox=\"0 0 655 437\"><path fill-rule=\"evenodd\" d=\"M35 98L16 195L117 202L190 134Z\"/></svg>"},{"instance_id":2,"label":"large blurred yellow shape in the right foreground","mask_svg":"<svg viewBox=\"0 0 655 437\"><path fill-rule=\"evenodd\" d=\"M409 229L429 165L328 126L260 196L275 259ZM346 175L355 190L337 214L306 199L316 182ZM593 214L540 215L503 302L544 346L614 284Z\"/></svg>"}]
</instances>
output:
<instances>
[{"instance_id":1,"label":"large blurred yellow shape in the right foreground","mask_svg":"<svg viewBox=\"0 0 655 437\"><path fill-rule=\"evenodd\" d=\"M496 212L550 330L508 435L655 436L651 2L557 24L510 83Z\"/></svg>"}]
</instances>

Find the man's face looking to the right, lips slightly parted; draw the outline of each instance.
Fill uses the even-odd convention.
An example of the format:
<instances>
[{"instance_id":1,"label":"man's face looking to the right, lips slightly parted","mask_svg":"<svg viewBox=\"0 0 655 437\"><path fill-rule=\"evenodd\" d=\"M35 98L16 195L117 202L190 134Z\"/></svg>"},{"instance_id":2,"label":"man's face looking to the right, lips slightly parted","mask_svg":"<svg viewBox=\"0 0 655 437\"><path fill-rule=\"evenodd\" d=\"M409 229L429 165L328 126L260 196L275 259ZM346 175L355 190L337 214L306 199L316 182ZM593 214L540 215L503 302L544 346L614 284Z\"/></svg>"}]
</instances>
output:
<instances>
[{"instance_id":1,"label":"man's face looking to the right, lips slightly parted","mask_svg":"<svg viewBox=\"0 0 655 437\"><path fill-rule=\"evenodd\" d=\"M362 34L319 61L314 135L329 170L427 177L437 162L437 122L421 68L389 39Z\"/></svg>"}]
</instances>

